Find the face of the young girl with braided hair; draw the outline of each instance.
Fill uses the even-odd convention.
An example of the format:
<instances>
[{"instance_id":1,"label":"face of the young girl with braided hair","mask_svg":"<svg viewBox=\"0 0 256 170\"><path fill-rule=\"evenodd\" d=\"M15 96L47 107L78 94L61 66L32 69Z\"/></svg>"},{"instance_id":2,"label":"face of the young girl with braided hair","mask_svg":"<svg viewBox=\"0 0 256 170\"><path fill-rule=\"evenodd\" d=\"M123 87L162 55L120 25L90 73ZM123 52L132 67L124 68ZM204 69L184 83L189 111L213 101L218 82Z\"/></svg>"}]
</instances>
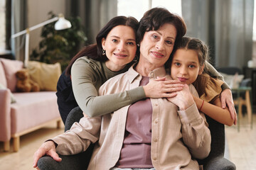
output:
<instances>
[{"instance_id":1,"label":"face of the young girl with braided hair","mask_svg":"<svg viewBox=\"0 0 256 170\"><path fill-rule=\"evenodd\" d=\"M186 84L196 81L198 74L202 74L196 50L178 49L171 62L171 78Z\"/></svg>"}]
</instances>

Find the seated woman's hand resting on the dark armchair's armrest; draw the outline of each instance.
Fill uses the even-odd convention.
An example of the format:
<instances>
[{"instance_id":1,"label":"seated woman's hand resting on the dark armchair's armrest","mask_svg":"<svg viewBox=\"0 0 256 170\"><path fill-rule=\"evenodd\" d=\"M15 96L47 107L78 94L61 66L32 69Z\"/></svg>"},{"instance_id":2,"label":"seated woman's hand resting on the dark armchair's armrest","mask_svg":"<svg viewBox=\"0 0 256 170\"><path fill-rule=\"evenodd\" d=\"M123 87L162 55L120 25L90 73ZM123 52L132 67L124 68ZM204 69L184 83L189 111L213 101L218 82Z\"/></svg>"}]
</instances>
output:
<instances>
[{"instance_id":1,"label":"seated woman's hand resting on the dark armchair's armrest","mask_svg":"<svg viewBox=\"0 0 256 170\"><path fill-rule=\"evenodd\" d=\"M34 160L33 160L33 168L38 169L37 163L38 159L43 157L44 155L48 155L52 157L56 162L61 162L61 158L58 156L55 148L55 144L53 141L44 142L41 147L35 152Z\"/></svg>"}]
</instances>

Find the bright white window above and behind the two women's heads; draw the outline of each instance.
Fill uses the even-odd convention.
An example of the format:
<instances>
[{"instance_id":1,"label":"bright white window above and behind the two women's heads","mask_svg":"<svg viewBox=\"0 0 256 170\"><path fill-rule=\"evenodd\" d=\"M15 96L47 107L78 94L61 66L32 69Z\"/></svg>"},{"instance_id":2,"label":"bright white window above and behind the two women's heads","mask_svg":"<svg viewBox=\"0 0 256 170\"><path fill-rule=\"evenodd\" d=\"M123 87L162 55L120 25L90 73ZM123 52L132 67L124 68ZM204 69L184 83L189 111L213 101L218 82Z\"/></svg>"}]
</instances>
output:
<instances>
[{"instance_id":1,"label":"bright white window above and behind the two women's heads","mask_svg":"<svg viewBox=\"0 0 256 170\"><path fill-rule=\"evenodd\" d=\"M139 21L144 12L156 6L163 6L172 13L181 16L181 0L118 0L118 16L134 16Z\"/></svg>"}]
</instances>

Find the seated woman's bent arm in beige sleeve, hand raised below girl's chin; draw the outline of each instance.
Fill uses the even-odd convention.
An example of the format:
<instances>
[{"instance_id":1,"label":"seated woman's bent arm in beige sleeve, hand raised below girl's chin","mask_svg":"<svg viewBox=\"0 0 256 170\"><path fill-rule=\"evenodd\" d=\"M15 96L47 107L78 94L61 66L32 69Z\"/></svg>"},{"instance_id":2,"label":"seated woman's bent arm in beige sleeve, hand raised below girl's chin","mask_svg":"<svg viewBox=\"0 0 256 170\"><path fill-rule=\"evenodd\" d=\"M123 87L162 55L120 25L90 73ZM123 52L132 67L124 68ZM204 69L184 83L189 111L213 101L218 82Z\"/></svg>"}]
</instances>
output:
<instances>
[{"instance_id":1,"label":"seated woman's bent arm in beige sleeve, hand raised below girl's chin","mask_svg":"<svg viewBox=\"0 0 256 170\"><path fill-rule=\"evenodd\" d=\"M179 108L183 142L188 146L193 157L203 159L210 152L210 130L205 115L198 112L192 94L197 94L196 89L185 84L183 90L177 92L177 96L167 100Z\"/></svg>"}]
</instances>

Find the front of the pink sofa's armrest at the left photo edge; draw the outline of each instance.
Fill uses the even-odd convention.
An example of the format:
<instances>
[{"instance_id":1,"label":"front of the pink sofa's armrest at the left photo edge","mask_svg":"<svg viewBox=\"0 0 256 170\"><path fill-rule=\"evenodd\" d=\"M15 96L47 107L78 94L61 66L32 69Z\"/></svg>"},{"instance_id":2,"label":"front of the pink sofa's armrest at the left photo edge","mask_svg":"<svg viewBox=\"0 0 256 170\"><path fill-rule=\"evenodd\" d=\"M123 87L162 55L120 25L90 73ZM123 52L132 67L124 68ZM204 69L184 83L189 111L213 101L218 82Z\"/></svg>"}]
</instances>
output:
<instances>
[{"instance_id":1,"label":"front of the pink sofa's armrest at the left photo edge","mask_svg":"<svg viewBox=\"0 0 256 170\"><path fill-rule=\"evenodd\" d=\"M0 89L0 141L11 140L11 91Z\"/></svg>"}]
</instances>

